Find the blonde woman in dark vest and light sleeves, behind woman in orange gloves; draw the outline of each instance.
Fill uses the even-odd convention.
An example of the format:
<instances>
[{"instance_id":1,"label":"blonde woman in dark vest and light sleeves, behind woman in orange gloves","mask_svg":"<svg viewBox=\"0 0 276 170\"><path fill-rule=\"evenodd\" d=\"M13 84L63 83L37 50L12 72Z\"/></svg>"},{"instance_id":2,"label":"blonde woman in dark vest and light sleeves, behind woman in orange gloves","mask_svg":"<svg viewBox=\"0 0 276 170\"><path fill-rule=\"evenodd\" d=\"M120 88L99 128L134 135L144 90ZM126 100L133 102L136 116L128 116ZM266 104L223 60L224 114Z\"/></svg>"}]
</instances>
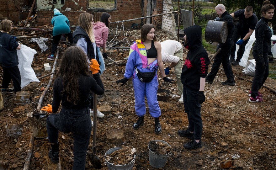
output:
<instances>
[{"instance_id":1,"label":"blonde woman in dark vest and light sleeves, behind woman in orange gloves","mask_svg":"<svg viewBox=\"0 0 276 170\"><path fill-rule=\"evenodd\" d=\"M88 64L91 59L95 59L98 61L99 65L101 65L97 53L96 40L93 34L93 15L91 13L81 13L79 15L78 24L80 26L77 26L76 31L73 33L74 44L81 47L83 52L87 55L86 60ZM90 93L90 95L91 98L93 98L92 93ZM93 99L91 99L90 104L90 115L93 116ZM97 117L103 118L104 114L97 110Z\"/></svg>"}]
</instances>

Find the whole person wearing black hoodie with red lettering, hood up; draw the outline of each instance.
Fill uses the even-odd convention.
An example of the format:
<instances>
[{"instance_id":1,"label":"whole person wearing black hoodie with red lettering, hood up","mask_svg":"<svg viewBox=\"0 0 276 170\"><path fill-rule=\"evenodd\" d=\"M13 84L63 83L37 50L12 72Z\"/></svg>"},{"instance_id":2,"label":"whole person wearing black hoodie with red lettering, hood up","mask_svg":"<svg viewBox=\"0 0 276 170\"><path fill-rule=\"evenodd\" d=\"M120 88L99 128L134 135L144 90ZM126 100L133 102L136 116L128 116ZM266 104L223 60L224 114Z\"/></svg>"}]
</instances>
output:
<instances>
[{"instance_id":1,"label":"whole person wearing black hoodie with red lettering, hood up","mask_svg":"<svg viewBox=\"0 0 276 170\"><path fill-rule=\"evenodd\" d=\"M184 47L188 49L188 56L184 62L181 82L183 84L184 110L188 116L187 130L178 130L178 135L192 139L184 144L186 149L201 148L202 119L200 104L205 101L205 77L210 60L201 42L201 27L194 25L184 29Z\"/></svg>"}]
</instances>

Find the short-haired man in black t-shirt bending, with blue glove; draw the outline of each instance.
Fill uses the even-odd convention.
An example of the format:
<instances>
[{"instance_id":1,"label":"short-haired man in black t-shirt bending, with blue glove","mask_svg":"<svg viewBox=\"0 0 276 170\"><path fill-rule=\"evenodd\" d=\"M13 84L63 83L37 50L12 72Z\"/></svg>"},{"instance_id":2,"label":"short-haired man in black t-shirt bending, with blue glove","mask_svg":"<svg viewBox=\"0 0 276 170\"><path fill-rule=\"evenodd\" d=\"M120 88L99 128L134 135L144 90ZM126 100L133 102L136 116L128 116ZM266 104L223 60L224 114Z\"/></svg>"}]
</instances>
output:
<instances>
[{"instance_id":1,"label":"short-haired man in black t-shirt bending, with blue glove","mask_svg":"<svg viewBox=\"0 0 276 170\"><path fill-rule=\"evenodd\" d=\"M239 17L239 22L236 24L233 30L233 41L237 45L240 45L237 52L237 58L235 61L236 45L234 44L231 49L230 63L233 66L239 65L242 55L244 53L245 46L252 35L255 26L258 22L257 16L253 13L253 8L247 6L245 9L239 9L230 14L233 18ZM241 37L241 40L238 39Z\"/></svg>"}]
</instances>

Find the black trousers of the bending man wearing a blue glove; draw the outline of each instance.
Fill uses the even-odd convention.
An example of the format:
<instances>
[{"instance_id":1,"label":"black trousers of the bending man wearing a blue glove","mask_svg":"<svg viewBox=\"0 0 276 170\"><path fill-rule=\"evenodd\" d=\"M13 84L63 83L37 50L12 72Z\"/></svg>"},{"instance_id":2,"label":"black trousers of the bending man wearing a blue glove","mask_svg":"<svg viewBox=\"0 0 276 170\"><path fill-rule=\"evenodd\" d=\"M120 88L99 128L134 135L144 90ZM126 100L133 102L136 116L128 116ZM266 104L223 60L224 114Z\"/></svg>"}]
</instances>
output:
<instances>
[{"instance_id":1,"label":"black trousers of the bending man wearing a blue glove","mask_svg":"<svg viewBox=\"0 0 276 170\"><path fill-rule=\"evenodd\" d=\"M248 31L244 31L244 30L241 30L237 27L234 27L234 30L233 30L233 41L234 41L234 45L233 47L231 48L231 55L230 55L230 58L233 58L235 59L235 52L236 52L236 42L238 41L238 39L241 37L241 39L244 38L245 35L247 35ZM241 62L241 58L243 56L243 53L244 53L244 49L245 49L245 46L246 44L248 43L249 41L249 38L247 40L245 40L242 45L240 45L239 47L239 50L237 52L237 61Z\"/></svg>"}]
</instances>

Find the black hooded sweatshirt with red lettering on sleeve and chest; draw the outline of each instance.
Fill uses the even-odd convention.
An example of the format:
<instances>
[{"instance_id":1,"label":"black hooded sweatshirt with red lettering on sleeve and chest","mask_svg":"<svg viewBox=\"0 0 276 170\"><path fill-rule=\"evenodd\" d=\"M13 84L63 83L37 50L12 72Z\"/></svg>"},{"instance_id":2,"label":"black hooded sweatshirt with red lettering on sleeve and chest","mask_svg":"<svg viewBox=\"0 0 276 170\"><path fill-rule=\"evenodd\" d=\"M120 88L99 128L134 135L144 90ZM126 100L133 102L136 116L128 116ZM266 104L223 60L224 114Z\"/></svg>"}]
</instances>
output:
<instances>
[{"instance_id":1,"label":"black hooded sweatshirt with red lettering on sleeve and chest","mask_svg":"<svg viewBox=\"0 0 276 170\"><path fill-rule=\"evenodd\" d=\"M184 47L189 51L182 68L180 80L184 86L199 90L200 77L206 77L210 60L201 42L201 27L199 25L190 26L184 29L184 33L188 39Z\"/></svg>"}]
</instances>

